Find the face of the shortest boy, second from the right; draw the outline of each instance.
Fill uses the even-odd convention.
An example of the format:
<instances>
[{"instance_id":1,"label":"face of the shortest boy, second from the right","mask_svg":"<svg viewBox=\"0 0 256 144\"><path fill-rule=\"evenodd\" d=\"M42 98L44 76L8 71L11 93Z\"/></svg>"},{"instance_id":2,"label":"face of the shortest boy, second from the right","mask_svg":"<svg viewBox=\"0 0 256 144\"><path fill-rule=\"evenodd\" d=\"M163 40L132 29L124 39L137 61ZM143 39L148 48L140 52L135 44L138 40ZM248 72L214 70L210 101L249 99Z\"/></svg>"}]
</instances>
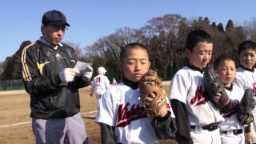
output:
<instances>
[{"instance_id":1,"label":"face of the shortest boy, second from the right","mask_svg":"<svg viewBox=\"0 0 256 144\"><path fill-rule=\"evenodd\" d=\"M232 60L224 60L217 69L217 74L221 78L224 86L231 86L236 74L235 63Z\"/></svg>"}]
</instances>

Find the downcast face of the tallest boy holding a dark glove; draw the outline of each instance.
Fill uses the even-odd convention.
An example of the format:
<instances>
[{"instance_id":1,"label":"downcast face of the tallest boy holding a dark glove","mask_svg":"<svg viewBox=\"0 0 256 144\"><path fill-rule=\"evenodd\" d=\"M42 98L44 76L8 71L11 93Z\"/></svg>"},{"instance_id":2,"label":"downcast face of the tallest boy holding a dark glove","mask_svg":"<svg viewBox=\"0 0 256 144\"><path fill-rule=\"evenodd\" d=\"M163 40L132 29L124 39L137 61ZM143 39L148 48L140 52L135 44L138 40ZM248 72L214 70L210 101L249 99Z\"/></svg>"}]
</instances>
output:
<instances>
[{"instance_id":1,"label":"downcast face of the tallest boy holding a dark glove","mask_svg":"<svg viewBox=\"0 0 256 144\"><path fill-rule=\"evenodd\" d=\"M190 59L190 64L202 69L210 62L213 52L213 43L198 42L192 51L185 50L186 57Z\"/></svg>"}]
</instances>

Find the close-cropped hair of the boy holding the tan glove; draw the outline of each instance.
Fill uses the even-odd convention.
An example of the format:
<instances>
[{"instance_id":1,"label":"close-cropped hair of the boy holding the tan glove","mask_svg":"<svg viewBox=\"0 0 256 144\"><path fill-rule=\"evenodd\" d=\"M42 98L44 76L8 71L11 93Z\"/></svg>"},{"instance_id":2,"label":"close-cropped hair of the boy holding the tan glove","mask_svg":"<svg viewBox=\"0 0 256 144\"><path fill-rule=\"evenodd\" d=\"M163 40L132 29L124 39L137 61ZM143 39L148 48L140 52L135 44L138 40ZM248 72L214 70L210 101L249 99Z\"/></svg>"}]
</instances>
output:
<instances>
[{"instance_id":1,"label":"close-cropped hair of the boy holding the tan glove","mask_svg":"<svg viewBox=\"0 0 256 144\"><path fill-rule=\"evenodd\" d=\"M146 53L149 55L149 50L146 48L146 46L138 43L138 42L135 42L135 43L129 43L127 44L126 46L124 47L121 47L121 51L120 51L120 62L122 62L123 58L126 58L126 54L127 54L127 51L130 50L130 49L133 49L135 47L140 47L142 48L143 50L146 50Z\"/></svg>"}]
</instances>

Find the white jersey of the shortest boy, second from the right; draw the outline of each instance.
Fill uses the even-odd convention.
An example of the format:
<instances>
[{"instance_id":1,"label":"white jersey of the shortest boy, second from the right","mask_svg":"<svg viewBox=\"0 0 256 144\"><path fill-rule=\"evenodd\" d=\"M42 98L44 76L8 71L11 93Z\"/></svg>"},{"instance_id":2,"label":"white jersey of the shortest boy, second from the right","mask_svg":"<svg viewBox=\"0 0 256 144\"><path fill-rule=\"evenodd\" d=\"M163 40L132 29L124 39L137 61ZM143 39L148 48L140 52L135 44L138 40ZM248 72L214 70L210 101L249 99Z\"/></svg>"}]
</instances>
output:
<instances>
[{"instance_id":1,"label":"white jersey of the shortest boy, second from the right","mask_svg":"<svg viewBox=\"0 0 256 144\"><path fill-rule=\"evenodd\" d=\"M230 101L239 104L241 101L244 90L241 87L233 85L232 91L226 90L226 94L229 96ZM237 130L242 129L240 122L238 121L238 116L236 111L230 111L228 114L223 114L225 122L220 126L220 130Z\"/></svg>"}]
</instances>

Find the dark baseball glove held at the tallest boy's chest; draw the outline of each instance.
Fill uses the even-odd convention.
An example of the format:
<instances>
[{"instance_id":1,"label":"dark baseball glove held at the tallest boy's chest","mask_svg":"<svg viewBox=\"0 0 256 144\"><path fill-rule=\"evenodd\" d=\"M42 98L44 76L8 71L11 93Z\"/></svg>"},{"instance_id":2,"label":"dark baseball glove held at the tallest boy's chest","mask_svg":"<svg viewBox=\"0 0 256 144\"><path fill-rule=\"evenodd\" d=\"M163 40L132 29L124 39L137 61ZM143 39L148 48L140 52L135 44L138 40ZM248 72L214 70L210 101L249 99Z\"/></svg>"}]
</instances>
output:
<instances>
[{"instance_id":1,"label":"dark baseball glove held at the tallest boy's chest","mask_svg":"<svg viewBox=\"0 0 256 144\"><path fill-rule=\"evenodd\" d=\"M215 107L222 110L223 107L229 104L230 99L226 94L221 79L214 73L212 66L205 68L203 72L203 83L205 86L206 99L210 100ZM219 98L218 102L216 102L214 99L218 93L222 94L222 96Z\"/></svg>"}]
</instances>

